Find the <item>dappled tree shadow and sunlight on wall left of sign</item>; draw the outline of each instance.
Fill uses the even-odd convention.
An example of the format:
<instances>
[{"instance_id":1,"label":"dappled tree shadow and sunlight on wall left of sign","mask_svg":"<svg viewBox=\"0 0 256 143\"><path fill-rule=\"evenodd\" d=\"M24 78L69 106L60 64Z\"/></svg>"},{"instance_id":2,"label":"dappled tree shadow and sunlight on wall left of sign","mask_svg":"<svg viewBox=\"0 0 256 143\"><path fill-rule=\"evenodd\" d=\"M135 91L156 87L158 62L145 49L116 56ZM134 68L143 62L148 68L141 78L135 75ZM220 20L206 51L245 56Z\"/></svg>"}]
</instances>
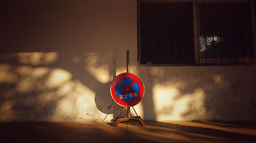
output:
<instances>
[{"instance_id":1,"label":"dappled tree shadow and sunlight on wall left of sign","mask_svg":"<svg viewBox=\"0 0 256 143\"><path fill-rule=\"evenodd\" d=\"M1 120L97 121L112 113L116 117L121 107L109 92L116 67L96 54L88 53L84 59L78 55L79 62L72 62L72 56L50 50L2 53ZM99 76L97 70L105 73Z\"/></svg>"}]
</instances>

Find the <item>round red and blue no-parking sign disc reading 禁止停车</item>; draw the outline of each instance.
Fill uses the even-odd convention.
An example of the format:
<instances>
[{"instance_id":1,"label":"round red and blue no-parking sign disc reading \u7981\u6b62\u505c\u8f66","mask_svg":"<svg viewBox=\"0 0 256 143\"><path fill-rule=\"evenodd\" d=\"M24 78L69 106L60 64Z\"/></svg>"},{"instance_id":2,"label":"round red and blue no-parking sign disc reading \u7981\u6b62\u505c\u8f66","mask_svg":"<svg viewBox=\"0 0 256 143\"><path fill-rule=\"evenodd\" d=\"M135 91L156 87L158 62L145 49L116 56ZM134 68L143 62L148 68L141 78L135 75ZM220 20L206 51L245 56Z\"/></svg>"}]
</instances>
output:
<instances>
[{"instance_id":1,"label":"round red and blue no-parking sign disc reading \u7981\u6b62\u505c\u8f66","mask_svg":"<svg viewBox=\"0 0 256 143\"><path fill-rule=\"evenodd\" d=\"M135 106L144 96L144 85L138 76L121 73L111 82L110 94L120 106Z\"/></svg>"}]
</instances>

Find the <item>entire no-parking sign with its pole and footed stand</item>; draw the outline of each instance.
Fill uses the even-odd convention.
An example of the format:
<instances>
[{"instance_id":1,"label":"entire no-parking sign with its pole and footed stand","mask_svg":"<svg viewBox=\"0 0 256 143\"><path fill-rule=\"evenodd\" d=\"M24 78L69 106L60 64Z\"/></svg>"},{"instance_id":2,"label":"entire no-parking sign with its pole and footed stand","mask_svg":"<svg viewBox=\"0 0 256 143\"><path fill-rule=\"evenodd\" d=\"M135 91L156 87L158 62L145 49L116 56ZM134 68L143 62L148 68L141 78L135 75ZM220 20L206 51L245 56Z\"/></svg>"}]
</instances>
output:
<instances>
[{"instance_id":1,"label":"entire no-parking sign with its pole and footed stand","mask_svg":"<svg viewBox=\"0 0 256 143\"><path fill-rule=\"evenodd\" d=\"M130 72L130 52L126 50L126 73L121 73L117 75L110 85L110 94L113 100L123 106L119 117L115 119L114 126L117 127L121 122L127 121L138 121L141 126L145 126L144 121L138 116L134 107L140 102L144 96L144 84L141 79L129 73ZM133 110L136 113L136 117L130 116L130 107L133 107ZM127 108L127 116L121 117L124 109Z\"/></svg>"}]
</instances>

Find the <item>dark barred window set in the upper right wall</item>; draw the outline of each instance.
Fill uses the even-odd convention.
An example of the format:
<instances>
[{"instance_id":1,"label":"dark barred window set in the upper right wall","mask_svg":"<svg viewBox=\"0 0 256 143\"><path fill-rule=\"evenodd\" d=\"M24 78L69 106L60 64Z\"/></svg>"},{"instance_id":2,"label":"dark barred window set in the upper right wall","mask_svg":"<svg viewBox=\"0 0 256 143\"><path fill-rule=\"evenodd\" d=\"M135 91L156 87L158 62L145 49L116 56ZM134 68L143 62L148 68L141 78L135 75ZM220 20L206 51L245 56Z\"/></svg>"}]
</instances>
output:
<instances>
[{"instance_id":1,"label":"dark barred window set in the upper right wall","mask_svg":"<svg viewBox=\"0 0 256 143\"><path fill-rule=\"evenodd\" d=\"M256 63L253 6L242 0L138 1L139 65Z\"/></svg>"}]
</instances>

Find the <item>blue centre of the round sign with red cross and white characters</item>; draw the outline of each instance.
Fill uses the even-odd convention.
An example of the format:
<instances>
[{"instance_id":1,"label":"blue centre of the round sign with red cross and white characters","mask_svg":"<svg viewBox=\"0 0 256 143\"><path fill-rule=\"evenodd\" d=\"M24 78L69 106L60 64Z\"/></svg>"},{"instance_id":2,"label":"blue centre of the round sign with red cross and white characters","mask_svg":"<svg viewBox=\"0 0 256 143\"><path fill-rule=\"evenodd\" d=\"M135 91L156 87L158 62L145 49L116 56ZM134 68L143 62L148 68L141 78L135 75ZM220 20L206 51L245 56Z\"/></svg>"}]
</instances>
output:
<instances>
[{"instance_id":1,"label":"blue centre of the round sign with red cross and white characters","mask_svg":"<svg viewBox=\"0 0 256 143\"><path fill-rule=\"evenodd\" d=\"M140 92L139 85L132 78L121 79L115 87L116 96L124 101L131 102L135 100Z\"/></svg>"}]
</instances>

